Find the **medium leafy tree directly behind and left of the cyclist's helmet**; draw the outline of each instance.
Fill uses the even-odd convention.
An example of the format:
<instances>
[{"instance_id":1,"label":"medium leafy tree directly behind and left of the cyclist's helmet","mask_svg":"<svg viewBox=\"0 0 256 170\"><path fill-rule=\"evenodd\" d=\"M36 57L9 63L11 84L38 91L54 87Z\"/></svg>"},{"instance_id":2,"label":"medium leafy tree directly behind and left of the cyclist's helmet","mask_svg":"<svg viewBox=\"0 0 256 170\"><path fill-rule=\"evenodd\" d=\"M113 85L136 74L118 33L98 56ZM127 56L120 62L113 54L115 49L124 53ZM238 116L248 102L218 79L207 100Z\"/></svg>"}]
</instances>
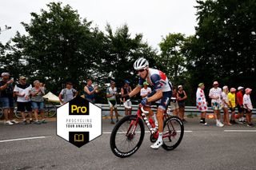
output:
<instances>
[{"instance_id":1,"label":"medium leafy tree directly behind and left of the cyclist's helmet","mask_svg":"<svg viewBox=\"0 0 256 170\"><path fill-rule=\"evenodd\" d=\"M145 57L151 65L154 65L156 51L142 42L142 34L136 34L131 38L127 25L119 27L115 33L111 26L107 25L106 32L109 55L104 58L105 73L109 73L109 77L114 77L119 86L123 85L126 79L130 80L132 85L137 85L138 77L134 71L134 61L138 57Z\"/></svg>"}]
</instances>

